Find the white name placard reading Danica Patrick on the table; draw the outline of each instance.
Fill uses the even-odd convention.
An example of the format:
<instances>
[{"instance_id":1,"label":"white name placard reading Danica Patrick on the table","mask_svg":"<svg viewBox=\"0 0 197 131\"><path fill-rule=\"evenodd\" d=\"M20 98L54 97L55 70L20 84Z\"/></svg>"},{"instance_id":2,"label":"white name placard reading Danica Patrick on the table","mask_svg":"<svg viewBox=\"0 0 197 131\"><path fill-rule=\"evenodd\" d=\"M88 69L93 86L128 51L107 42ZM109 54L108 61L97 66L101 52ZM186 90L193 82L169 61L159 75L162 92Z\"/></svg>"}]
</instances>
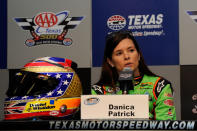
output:
<instances>
[{"instance_id":1,"label":"white name placard reading Danica Patrick on the table","mask_svg":"<svg viewBox=\"0 0 197 131\"><path fill-rule=\"evenodd\" d=\"M148 119L148 95L82 95L81 119Z\"/></svg>"}]
</instances>

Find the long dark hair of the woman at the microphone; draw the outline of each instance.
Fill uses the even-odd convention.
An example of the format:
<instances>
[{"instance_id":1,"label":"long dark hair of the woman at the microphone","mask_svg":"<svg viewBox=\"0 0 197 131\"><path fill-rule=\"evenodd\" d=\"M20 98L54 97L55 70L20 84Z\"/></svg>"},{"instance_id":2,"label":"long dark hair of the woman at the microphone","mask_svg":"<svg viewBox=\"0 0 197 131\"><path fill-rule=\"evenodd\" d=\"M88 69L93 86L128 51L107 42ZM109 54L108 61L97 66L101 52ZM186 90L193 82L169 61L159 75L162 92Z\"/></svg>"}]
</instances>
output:
<instances>
[{"instance_id":1,"label":"long dark hair of the woman at the microphone","mask_svg":"<svg viewBox=\"0 0 197 131\"><path fill-rule=\"evenodd\" d=\"M146 74L150 76L156 76L152 73L148 66L145 64L142 52L139 48L139 45L135 38L132 35L131 31L120 30L117 32L113 32L106 36L106 45L104 50L103 64L101 69L101 76L99 81L96 83L97 85L111 86L115 87L115 84L118 80L118 72L115 67L111 67L107 62L107 58L112 59L112 53L114 48L120 43L121 40L128 38L131 39L135 45L137 52L140 55L139 61L139 71L141 74Z\"/></svg>"}]
</instances>

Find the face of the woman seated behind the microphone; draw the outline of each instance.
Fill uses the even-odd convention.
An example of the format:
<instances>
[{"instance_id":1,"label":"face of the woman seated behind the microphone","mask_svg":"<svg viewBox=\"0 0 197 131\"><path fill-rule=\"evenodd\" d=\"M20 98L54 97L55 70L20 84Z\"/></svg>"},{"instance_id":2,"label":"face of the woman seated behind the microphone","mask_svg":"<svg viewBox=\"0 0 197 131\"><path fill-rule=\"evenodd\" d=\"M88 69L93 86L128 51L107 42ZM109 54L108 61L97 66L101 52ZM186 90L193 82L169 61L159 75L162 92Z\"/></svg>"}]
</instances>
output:
<instances>
[{"instance_id":1,"label":"face of the woman seated behind the microphone","mask_svg":"<svg viewBox=\"0 0 197 131\"><path fill-rule=\"evenodd\" d=\"M122 71L124 67L130 67L134 71L134 76L139 74L139 60L140 55L135 48L131 39L123 39L115 47L112 52L112 59L108 58L108 63L117 69L118 72Z\"/></svg>"}]
</instances>

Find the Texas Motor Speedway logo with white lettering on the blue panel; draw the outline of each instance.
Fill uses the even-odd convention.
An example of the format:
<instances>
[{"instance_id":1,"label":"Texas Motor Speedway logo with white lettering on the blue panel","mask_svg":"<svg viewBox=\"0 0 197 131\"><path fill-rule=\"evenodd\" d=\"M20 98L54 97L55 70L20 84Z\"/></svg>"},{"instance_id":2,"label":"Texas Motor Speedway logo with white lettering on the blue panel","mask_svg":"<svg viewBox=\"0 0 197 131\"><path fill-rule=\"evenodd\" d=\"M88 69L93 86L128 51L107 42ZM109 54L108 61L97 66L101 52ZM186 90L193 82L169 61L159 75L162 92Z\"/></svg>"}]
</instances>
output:
<instances>
[{"instance_id":1,"label":"Texas Motor Speedway logo with white lettering on the blue panel","mask_svg":"<svg viewBox=\"0 0 197 131\"><path fill-rule=\"evenodd\" d=\"M111 30L126 28L134 36L162 36L164 14L128 15L127 20L121 15L110 16L107 25Z\"/></svg>"}]
</instances>

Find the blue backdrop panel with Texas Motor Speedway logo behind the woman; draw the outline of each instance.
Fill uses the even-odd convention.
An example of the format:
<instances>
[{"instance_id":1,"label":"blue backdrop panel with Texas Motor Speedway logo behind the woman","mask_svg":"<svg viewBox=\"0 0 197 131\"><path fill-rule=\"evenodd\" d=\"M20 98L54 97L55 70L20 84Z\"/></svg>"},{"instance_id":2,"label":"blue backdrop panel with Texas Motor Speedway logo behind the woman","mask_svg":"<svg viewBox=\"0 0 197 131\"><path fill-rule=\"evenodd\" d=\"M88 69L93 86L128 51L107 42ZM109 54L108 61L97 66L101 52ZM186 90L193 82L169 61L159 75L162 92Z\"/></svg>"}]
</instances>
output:
<instances>
[{"instance_id":1,"label":"blue backdrop panel with Texas Motor Speedway logo behind the woman","mask_svg":"<svg viewBox=\"0 0 197 131\"><path fill-rule=\"evenodd\" d=\"M178 16L178 0L92 1L93 66L101 66L105 36L122 29L133 32L148 65L178 65Z\"/></svg>"}]
</instances>

